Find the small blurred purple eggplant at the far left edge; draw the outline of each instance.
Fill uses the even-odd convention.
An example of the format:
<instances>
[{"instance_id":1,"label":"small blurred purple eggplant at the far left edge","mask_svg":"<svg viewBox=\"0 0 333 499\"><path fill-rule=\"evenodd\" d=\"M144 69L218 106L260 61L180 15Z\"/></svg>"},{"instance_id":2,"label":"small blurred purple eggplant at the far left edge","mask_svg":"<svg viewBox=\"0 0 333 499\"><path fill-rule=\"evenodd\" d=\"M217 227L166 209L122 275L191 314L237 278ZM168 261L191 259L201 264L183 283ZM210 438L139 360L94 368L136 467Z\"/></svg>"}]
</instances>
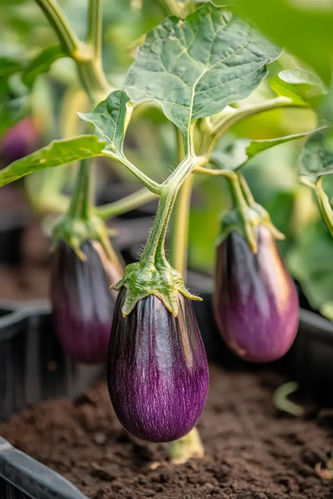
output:
<instances>
[{"instance_id":1,"label":"small blurred purple eggplant at the far left edge","mask_svg":"<svg viewBox=\"0 0 333 499\"><path fill-rule=\"evenodd\" d=\"M6 164L31 153L38 142L38 131L31 118L9 128L1 139L1 154Z\"/></svg>"}]
</instances>

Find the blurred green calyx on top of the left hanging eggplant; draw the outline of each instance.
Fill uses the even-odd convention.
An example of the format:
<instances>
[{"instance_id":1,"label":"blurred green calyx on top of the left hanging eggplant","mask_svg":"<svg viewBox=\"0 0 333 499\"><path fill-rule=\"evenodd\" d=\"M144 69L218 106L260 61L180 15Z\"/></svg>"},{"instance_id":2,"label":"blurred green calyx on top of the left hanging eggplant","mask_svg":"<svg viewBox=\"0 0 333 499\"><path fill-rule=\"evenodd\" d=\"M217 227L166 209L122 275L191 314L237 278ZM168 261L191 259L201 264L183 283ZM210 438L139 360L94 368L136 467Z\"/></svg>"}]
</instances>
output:
<instances>
[{"instance_id":1,"label":"blurred green calyx on top of the left hanging eggplant","mask_svg":"<svg viewBox=\"0 0 333 499\"><path fill-rule=\"evenodd\" d=\"M85 256L81 251L84 241L89 239L98 241L105 253L112 258L113 250L109 242L110 231L104 222L96 215L88 219L73 218L68 213L62 215L52 227L53 245L55 250L60 241L64 241L70 246L81 260Z\"/></svg>"}]
</instances>

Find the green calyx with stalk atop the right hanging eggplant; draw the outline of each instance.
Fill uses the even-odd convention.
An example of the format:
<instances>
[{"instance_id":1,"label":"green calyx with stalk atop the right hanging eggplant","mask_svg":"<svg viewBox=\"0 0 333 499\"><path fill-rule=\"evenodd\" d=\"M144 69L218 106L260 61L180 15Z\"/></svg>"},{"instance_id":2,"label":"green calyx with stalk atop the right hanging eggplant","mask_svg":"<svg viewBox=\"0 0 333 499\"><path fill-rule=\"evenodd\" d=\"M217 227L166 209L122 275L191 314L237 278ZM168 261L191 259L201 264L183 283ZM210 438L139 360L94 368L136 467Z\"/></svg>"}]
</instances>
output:
<instances>
[{"instance_id":1,"label":"green calyx with stalk atop the right hanging eggplant","mask_svg":"<svg viewBox=\"0 0 333 499\"><path fill-rule=\"evenodd\" d=\"M249 186L241 175L230 180L230 190L234 207L221 218L218 245L235 231L247 242L251 251L257 253L259 225L267 227L275 239L285 239L285 236L272 223L265 208L255 202Z\"/></svg>"}]
</instances>

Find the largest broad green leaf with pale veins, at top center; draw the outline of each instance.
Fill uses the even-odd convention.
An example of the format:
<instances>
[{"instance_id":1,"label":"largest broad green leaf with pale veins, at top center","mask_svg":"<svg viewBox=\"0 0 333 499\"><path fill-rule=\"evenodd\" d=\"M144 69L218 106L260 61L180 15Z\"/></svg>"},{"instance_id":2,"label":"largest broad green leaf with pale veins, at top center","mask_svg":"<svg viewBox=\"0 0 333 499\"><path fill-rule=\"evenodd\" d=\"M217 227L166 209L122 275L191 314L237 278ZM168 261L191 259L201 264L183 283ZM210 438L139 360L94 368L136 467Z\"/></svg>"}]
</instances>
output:
<instances>
[{"instance_id":1,"label":"largest broad green leaf with pale veins, at top center","mask_svg":"<svg viewBox=\"0 0 333 499\"><path fill-rule=\"evenodd\" d=\"M195 119L246 98L280 52L230 10L206 3L148 32L124 88L135 103L159 102L187 139Z\"/></svg>"}]
</instances>

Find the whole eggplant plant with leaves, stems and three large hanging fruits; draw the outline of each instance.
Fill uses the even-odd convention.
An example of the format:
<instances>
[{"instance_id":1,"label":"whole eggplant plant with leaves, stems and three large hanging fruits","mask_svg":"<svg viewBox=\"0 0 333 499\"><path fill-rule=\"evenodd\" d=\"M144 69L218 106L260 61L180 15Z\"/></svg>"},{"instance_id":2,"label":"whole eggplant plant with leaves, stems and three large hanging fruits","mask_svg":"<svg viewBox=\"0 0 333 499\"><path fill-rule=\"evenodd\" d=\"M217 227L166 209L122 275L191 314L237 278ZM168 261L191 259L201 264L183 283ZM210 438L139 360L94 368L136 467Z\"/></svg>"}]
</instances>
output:
<instances>
[{"instance_id":1,"label":"whole eggplant plant with leaves, stems and three large hanging fruits","mask_svg":"<svg viewBox=\"0 0 333 499\"><path fill-rule=\"evenodd\" d=\"M209 383L191 304L200 297L191 294L184 281L193 178L224 177L232 201L217 235L214 314L221 334L248 360L275 360L295 338L298 297L276 245L284 236L255 202L241 172L262 151L309 136L300 176L316 192L333 234L332 210L322 188L322 176L333 172L330 125L323 122L315 130L270 140L236 140L237 158L228 161L216 146L248 117L273 109L309 109L326 88L312 72L295 68L271 77L272 98L244 102L267 77L267 66L282 49L242 20L241 11L233 7L166 1L172 15L141 40L122 88L114 89L101 63L102 1L89 1L85 42L55 0L36 3L60 46L42 52L27 66L10 66L6 60L6 67L21 73L24 82L32 71L35 76L38 68L47 70L56 58L73 59L92 108L79 116L86 130L94 133L54 140L13 161L0 172L0 186L38 170L80 162L69 208L53 228L51 298L60 341L70 355L84 362L108 356L110 398L122 425L152 442L182 439L181 445L173 444L171 457L184 462L203 452L195 425ZM178 144L177 164L161 183L133 164L124 149L128 124L139 120L137 110L145 102L160 106ZM102 157L131 172L143 189L95 207L92 160ZM158 210L140 261L122 269L104 220L155 197Z\"/></svg>"}]
</instances>

